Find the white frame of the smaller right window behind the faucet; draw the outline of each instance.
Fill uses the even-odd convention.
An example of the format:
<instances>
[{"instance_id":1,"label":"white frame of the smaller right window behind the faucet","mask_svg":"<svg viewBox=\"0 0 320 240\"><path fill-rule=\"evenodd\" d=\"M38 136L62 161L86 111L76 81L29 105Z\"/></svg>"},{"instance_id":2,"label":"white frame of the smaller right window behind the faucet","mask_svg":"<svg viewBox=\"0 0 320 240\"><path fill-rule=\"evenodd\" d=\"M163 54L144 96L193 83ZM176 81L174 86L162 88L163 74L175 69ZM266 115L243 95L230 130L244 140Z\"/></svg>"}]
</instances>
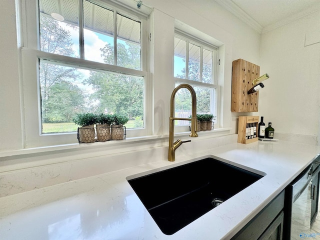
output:
<instances>
[{"instance_id":1,"label":"white frame of the smaller right window behind the faucet","mask_svg":"<svg viewBox=\"0 0 320 240\"><path fill-rule=\"evenodd\" d=\"M200 46L200 62L202 63L202 49L205 48L207 50L212 51L212 70L211 70L211 83L205 83L202 82L202 65L200 64L200 76L199 76L199 81L196 80L189 80L186 78L179 78L175 77L174 81L175 84L190 84L191 86L198 86L198 87L205 87L205 88L214 88L215 89L215 99L214 103L215 105L212 106L210 104L210 111L211 113L216 116L213 124L214 126L219 126L219 119L220 117L218 116L219 112L219 99L220 99L220 86L218 84L218 64L219 64L219 59L218 59L218 46L215 46L209 42L206 42L202 39L199 39L196 36L193 36L185 31L182 31L180 29L175 28L174 29L174 37L178 37L182 40L186 41L186 55L185 55L185 71L186 71L186 76L188 76L188 43ZM173 52L174 56L174 52ZM174 64L174 62L173 62ZM174 73L173 73L174 75ZM214 109L214 110L213 110ZM177 125L175 126L177 128L177 132L183 132L188 130L188 126L185 125Z\"/></svg>"}]
</instances>

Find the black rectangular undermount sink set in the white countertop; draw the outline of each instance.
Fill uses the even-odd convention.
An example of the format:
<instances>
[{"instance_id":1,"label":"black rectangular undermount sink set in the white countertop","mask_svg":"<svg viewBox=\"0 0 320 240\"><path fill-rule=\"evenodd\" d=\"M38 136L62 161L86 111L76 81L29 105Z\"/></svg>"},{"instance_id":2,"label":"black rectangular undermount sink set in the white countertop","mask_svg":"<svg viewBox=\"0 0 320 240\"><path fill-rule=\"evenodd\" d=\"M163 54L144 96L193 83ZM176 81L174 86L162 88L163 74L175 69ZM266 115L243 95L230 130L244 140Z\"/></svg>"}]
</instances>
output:
<instances>
[{"instance_id":1,"label":"black rectangular undermount sink set in the white countertop","mask_svg":"<svg viewBox=\"0 0 320 240\"><path fill-rule=\"evenodd\" d=\"M207 157L127 179L161 231L171 235L261 177Z\"/></svg>"}]
</instances>

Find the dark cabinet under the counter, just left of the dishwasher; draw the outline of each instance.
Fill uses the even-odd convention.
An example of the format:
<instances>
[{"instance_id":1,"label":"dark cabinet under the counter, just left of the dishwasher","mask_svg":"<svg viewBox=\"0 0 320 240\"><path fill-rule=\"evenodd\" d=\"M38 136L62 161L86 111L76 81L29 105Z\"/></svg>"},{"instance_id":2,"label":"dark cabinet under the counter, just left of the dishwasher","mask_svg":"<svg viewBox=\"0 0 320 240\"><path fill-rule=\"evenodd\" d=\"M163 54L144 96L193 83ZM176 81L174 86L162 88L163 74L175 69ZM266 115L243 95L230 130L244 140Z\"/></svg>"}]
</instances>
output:
<instances>
[{"instance_id":1,"label":"dark cabinet under the counter, just left of the dishwasher","mask_svg":"<svg viewBox=\"0 0 320 240\"><path fill-rule=\"evenodd\" d=\"M283 235L284 191L278 194L232 240L281 240Z\"/></svg>"}]
</instances>

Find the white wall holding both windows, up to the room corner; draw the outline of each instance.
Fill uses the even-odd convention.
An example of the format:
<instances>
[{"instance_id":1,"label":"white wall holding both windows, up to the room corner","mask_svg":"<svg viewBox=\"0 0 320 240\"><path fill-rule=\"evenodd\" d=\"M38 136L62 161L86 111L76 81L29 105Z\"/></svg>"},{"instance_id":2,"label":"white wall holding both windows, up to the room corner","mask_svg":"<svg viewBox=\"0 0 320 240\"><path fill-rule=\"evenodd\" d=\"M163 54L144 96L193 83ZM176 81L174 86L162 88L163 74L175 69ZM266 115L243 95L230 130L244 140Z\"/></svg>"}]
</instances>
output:
<instances>
[{"instance_id":1,"label":"white wall holding both windows, up to the room corner","mask_svg":"<svg viewBox=\"0 0 320 240\"><path fill-rule=\"evenodd\" d=\"M20 0L16 0L20 1ZM23 0L22 0L23 1ZM154 89L159 84L173 83L172 47L173 26L175 19L194 29L204 32L224 45L225 52L224 85L221 94L224 97L221 104L223 111L222 126L231 127L230 132L236 133L236 115L230 112L231 95L231 64L232 60L243 58L255 64L260 64L260 36L237 17L224 10L214 1L209 0L145 0L144 4L155 7L154 10L154 59L153 79ZM15 2L1 0L0 2L0 152L22 149L23 141L23 88L18 76L18 48L16 36ZM22 21L23 22L23 21ZM163 80L164 81L161 81ZM169 88L171 89L171 88ZM154 133L167 134L168 102L170 91L154 94ZM221 114L220 112L220 114ZM35 116L36 117L36 116ZM16 133L17 135L13 135ZM76 141L76 139L75 139Z\"/></svg>"}]
</instances>

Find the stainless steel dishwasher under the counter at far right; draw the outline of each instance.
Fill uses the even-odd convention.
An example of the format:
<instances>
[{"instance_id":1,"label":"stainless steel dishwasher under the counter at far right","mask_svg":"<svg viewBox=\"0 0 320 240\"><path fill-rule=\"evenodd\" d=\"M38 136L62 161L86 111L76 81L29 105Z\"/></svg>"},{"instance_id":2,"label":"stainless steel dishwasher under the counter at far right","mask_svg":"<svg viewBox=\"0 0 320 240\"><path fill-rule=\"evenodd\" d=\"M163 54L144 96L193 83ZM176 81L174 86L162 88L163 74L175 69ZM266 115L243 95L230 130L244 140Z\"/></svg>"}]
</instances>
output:
<instances>
[{"instance_id":1,"label":"stainless steel dishwasher under the counter at far right","mask_svg":"<svg viewBox=\"0 0 320 240\"><path fill-rule=\"evenodd\" d=\"M318 174L320 167L319 162L320 156L318 155L315 160L309 164L289 185L288 193L286 195L286 202L288 206L288 232L291 240L297 240L301 238L314 238L315 236L320 238L320 233L314 232L311 229L311 223L314 220L314 213L311 218L311 206L312 201L317 199L317 189L312 184L312 180L318 180L315 174ZM316 207L317 208L317 207ZM316 209L317 210L317 209ZM316 213L315 213L316 214Z\"/></svg>"}]
</instances>

